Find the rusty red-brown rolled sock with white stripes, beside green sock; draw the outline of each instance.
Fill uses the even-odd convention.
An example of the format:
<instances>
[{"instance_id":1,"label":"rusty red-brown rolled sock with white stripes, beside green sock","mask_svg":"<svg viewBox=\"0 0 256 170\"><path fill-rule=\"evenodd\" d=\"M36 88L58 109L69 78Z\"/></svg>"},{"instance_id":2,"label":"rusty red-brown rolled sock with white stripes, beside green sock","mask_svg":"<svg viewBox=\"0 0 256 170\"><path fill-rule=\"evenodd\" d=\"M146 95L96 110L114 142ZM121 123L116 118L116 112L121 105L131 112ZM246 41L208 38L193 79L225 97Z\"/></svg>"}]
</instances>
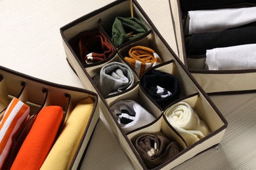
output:
<instances>
[{"instance_id":1,"label":"rusty red-brown rolled sock with white stripes, beside green sock","mask_svg":"<svg viewBox=\"0 0 256 170\"><path fill-rule=\"evenodd\" d=\"M114 46L101 31L83 31L70 40L83 65L103 61L114 54Z\"/></svg>"}]
</instances>

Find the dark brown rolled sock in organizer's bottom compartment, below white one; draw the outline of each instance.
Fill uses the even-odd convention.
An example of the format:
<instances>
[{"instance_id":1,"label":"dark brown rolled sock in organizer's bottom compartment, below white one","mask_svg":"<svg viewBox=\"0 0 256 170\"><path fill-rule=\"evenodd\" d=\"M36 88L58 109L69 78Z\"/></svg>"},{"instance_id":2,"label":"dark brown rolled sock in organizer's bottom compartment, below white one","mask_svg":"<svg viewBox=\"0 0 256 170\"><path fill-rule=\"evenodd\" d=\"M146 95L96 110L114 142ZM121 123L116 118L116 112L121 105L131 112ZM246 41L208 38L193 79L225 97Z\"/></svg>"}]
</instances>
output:
<instances>
[{"instance_id":1,"label":"dark brown rolled sock in organizer's bottom compartment, below white one","mask_svg":"<svg viewBox=\"0 0 256 170\"><path fill-rule=\"evenodd\" d=\"M145 133L135 141L135 148L148 169L158 167L179 154L179 145L164 133Z\"/></svg>"}]
</instances>

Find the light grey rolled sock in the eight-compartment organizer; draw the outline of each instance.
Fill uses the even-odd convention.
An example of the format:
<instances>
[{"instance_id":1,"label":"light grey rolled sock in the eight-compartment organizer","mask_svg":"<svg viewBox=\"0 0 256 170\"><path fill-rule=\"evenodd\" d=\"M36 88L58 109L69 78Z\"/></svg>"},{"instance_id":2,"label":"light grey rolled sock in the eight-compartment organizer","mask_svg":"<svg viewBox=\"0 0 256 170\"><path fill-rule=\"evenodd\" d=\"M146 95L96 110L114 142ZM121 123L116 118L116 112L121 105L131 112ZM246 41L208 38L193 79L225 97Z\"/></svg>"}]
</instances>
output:
<instances>
[{"instance_id":1,"label":"light grey rolled sock in the eight-compartment organizer","mask_svg":"<svg viewBox=\"0 0 256 170\"><path fill-rule=\"evenodd\" d=\"M130 67L116 61L104 65L100 69L100 75L93 78L93 82L104 96L123 92L131 88L134 81Z\"/></svg>"}]
</instances>

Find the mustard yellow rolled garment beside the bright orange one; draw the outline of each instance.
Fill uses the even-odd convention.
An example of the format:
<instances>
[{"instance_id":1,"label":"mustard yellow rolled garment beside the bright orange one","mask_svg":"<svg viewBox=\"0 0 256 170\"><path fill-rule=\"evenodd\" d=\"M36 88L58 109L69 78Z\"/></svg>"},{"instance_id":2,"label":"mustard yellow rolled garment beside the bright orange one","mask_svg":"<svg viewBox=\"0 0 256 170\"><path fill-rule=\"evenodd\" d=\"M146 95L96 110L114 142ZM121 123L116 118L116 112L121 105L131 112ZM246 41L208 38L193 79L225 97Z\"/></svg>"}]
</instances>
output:
<instances>
[{"instance_id":1,"label":"mustard yellow rolled garment beside the bright orange one","mask_svg":"<svg viewBox=\"0 0 256 170\"><path fill-rule=\"evenodd\" d=\"M95 101L87 97L72 110L62 132L40 169L68 169L87 126Z\"/></svg>"}]
</instances>

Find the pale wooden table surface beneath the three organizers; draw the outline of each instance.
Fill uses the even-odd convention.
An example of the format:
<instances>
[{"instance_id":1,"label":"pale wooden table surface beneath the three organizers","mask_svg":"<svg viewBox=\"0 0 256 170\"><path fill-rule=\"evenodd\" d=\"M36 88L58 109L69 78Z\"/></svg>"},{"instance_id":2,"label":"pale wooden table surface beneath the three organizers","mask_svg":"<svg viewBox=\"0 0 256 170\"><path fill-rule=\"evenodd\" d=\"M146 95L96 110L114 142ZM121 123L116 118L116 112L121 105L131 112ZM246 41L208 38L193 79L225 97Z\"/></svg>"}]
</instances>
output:
<instances>
[{"instance_id":1,"label":"pale wooden table surface beneath the three organizers","mask_svg":"<svg viewBox=\"0 0 256 170\"><path fill-rule=\"evenodd\" d=\"M0 65L50 82L83 88L66 61L59 29L112 1L0 0ZM177 52L169 1L139 3ZM175 169L256 169L256 94L211 99L229 123L219 150L203 152ZM81 169L134 169L102 115Z\"/></svg>"}]
</instances>

